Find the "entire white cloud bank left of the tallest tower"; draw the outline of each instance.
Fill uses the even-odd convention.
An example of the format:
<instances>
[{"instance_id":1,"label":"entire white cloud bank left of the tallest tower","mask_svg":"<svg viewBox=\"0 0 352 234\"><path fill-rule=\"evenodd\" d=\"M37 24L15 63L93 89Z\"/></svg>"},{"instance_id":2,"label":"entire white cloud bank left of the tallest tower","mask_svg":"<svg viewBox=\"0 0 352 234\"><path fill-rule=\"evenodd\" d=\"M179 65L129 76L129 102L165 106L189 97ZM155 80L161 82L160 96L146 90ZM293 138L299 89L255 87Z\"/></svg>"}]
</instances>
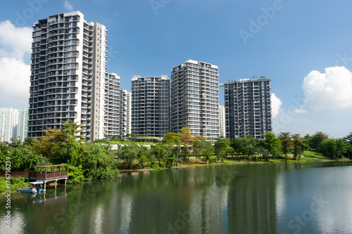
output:
<instances>
[{"instance_id":1,"label":"entire white cloud bank left of the tallest tower","mask_svg":"<svg viewBox=\"0 0 352 234\"><path fill-rule=\"evenodd\" d=\"M31 27L15 27L6 20L0 22L0 106L21 108L28 106L30 65L24 57L29 56L32 43Z\"/></svg>"}]
</instances>

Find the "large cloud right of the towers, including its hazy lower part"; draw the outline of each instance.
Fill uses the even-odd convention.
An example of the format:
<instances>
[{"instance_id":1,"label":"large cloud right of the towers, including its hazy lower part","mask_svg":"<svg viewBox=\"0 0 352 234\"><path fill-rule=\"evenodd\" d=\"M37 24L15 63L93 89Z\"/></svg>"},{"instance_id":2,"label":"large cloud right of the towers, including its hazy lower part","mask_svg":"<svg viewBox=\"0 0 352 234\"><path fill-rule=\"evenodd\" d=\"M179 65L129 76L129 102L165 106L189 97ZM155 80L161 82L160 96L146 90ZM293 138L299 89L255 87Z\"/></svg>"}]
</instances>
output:
<instances>
[{"instance_id":1,"label":"large cloud right of the towers, including its hazy lower part","mask_svg":"<svg viewBox=\"0 0 352 234\"><path fill-rule=\"evenodd\" d=\"M275 132L324 131L330 136L344 137L351 131L346 122L352 113L352 72L346 67L327 67L323 73L313 70L304 77L301 88L304 97L293 99L274 119Z\"/></svg>"}]
</instances>

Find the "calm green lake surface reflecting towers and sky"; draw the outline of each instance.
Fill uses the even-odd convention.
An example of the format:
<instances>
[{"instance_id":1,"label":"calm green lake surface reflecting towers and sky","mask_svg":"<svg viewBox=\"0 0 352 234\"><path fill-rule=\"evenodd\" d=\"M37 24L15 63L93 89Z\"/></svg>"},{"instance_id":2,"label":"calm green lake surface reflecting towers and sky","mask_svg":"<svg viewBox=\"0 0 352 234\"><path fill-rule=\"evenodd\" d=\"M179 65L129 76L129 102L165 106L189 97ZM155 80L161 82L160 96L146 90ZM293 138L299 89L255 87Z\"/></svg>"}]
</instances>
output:
<instances>
[{"instance_id":1,"label":"calm green lake surface reflecting towers and sky","mask_svg":"<svg viewBox=\"0 0 352 234\"><path fill-rule=\"evenodd\" d=\"M122 173L0 197L0 233L352 233L352 164L236 164Z\"/></svg>"}]
</instances>

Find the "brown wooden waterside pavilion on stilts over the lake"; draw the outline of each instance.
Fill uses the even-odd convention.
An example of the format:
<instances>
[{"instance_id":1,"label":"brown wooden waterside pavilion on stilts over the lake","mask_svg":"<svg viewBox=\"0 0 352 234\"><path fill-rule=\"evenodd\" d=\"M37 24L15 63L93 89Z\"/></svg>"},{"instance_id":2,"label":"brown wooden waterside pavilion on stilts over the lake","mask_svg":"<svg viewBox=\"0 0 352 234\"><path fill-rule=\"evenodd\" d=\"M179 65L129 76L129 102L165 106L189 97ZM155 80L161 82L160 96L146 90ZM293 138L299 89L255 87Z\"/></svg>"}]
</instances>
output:
<instances>
[{"instance_id":1,"label":"brown wooden waterside pavilion on stilts over the lake","mask_svg":"<svg viewBox=\"0 0 352 234\"><path fill-rule=\"evenodd\" d=\"M66 169L62 171L61 167L66 167ZM40 169L45 169L45 171ZM44 190L46 189L46 182L55 181L56 188L56 181L63 179L65 180L66 187L66 180L68 179L68 164L37 166L37 171L30 171L28 177L31 180L44 182Z\"/></svg>"}]
</instances>

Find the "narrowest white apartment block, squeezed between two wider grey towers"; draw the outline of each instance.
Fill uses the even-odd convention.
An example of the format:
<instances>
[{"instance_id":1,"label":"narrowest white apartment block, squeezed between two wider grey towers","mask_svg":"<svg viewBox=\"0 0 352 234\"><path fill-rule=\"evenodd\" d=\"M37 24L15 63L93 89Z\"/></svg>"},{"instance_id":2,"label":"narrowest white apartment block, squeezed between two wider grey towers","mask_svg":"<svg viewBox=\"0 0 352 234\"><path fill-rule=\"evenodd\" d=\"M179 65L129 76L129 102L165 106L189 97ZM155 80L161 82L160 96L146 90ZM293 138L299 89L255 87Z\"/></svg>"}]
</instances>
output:
<instances>
[{"instance_id":1,"label":"narrowest white apartment block, squeezed between two wider grey towers","mask_svg":"<svg viewBox=\"0 0 352 234\"><path fill-rule=\"evenodd\" d=\"M120 90L120 136L131 134L132 93Z\"/></svg>"}]
</instances>

